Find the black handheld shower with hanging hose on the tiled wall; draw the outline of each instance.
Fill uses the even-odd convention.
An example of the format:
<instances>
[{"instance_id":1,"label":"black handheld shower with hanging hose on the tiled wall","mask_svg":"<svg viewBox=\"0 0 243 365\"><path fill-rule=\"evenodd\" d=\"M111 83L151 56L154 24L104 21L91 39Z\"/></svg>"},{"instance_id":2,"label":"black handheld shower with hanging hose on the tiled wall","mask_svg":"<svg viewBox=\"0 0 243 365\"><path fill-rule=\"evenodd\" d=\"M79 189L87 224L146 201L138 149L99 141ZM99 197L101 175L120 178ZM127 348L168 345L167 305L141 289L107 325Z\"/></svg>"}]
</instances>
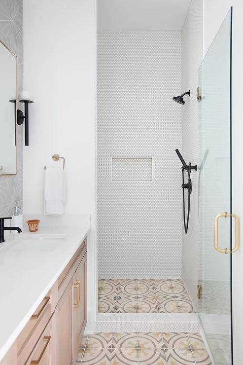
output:
<instances>
[{"instance_id":1,"label":"black handheld shower with hanging hose on the tiled wall","mask_svg":"<svg viewBox=\"0 0 243 365\"><path fill-rule=\"evenodd\" d=\"M191 181L191 176L190 173L192 170L197 171L198 167L197 165L192 166L191 162L189 162L189 165L187 165L185 163L185 160L183 159L183 157L180 154L180 151L176 148L175 152L177 153L177 156L179 157L181 163L182 163L182 196L183 196L183 221L184 221L184 229L185 229L185 233L187 233L188 230L188 224L189 224L189 216L190 216L190 195L192 193L192 181ZM188 174L188 181L187 183L184 182L184 170L187 171ZM185 214L185 189L188 189L188 206L187 206L187 216Z\"/></svg>"}]
</instances>

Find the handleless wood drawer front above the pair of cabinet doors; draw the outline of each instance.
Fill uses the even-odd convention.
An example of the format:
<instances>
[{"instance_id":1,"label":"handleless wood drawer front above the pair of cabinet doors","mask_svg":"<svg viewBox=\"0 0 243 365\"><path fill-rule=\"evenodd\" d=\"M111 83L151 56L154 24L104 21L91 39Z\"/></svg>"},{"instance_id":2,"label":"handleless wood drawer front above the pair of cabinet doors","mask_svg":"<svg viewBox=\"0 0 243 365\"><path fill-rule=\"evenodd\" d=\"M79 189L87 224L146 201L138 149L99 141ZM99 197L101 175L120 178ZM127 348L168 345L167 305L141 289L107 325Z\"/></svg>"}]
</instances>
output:
<instances>
[{"instance_id":1,"label":"handleless wood drawer front above the pair of cabinet doors","mask_svg":"<svg viewBox=\"0 0 243 365\"><path fill-rule=\"evenodd\" d=\"M58 299L61 298L65 289L67 288L69 281L71 280L74 272L76 271L81 259L87 252L87 238L81 243L79 249L70 259L68 265L63 270L62 274L58 278Z\"/></svg>"}]
</instances>

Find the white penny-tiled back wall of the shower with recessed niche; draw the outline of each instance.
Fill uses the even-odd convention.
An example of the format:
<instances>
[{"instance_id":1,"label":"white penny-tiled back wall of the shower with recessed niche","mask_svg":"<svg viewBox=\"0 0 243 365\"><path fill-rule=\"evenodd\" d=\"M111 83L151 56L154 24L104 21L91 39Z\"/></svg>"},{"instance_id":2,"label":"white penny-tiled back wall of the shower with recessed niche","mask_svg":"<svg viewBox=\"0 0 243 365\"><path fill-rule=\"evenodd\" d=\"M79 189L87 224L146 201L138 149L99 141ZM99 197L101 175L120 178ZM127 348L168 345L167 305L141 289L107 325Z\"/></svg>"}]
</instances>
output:
<instances>
[{"instance_id":1,"label":"white penny-tiled back wall of the shower with recessed niche","mask_svg":"<svg viewBox=\"0 0 243 365\"><path fill-rule=\"evenodd\" d=\"M180 31L98 33L101 279L181 277L180 91Z\"/></svg>"}]
</instances>

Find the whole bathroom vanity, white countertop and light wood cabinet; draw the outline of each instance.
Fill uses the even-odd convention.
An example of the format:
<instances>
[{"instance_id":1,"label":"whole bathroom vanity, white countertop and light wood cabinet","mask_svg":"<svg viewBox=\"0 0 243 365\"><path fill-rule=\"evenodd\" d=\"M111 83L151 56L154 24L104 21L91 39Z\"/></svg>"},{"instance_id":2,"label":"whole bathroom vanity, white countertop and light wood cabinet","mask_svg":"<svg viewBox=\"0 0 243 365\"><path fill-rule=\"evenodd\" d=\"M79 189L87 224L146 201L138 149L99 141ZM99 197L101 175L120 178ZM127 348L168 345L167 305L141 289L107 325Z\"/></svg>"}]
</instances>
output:
<instances>
[{"instance_id":1,"label":"whole bathroom vanity, white countertop and light wood cabinet","mask_svg":"<svg viewBox=\"0 0 243 365\"><path fill-rule=\"evenodd\" d=\"M47 227L0 248L0 274L15 271L0 280L0 365L75 363L87 321L88 230Z\"/></svg>"}]
</instances>

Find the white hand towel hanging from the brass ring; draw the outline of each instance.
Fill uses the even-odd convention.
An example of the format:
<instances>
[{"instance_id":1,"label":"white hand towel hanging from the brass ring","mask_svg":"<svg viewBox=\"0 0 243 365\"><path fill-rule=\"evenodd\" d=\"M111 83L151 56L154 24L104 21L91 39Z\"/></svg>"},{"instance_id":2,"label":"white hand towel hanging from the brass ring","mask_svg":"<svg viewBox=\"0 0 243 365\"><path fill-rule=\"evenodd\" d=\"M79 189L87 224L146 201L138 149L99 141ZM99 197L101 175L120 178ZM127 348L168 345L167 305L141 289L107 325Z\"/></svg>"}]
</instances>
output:
<instances>
[{"instance_id":1,"label":"white hand towel hanging from the brass ring","mask_svg":"<svg viewBox=\"0 0 243 365\"><path fill-rule=\"evenodd\" d=\"M60 167L46 167L44 179L44 214L61 216L65 211L65 172Z\"/></svg>"}]
</instances>

